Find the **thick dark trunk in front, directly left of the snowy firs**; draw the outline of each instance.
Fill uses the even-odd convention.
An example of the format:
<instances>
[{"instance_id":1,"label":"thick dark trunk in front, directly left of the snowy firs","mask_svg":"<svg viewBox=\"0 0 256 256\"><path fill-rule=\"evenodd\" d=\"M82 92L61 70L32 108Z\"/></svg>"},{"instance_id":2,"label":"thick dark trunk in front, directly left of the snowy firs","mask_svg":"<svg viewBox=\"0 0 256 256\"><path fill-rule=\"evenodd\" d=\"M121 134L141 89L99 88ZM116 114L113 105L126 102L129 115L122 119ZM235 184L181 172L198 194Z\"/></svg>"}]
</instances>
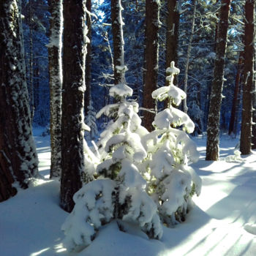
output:
<instances>
[{"instance_id":1,"label":"thick dark trunk in front, directly left of the snowy firs","mask_svg":"<svg viewBox=\"0 0 256 256\"><path fill-rule=\"evenodd\" d=\"M80 189L83 157L86 7L83 0L64 1L63 94L61 117L61 207L72 211Z\"/></svg>"}]
</instances>

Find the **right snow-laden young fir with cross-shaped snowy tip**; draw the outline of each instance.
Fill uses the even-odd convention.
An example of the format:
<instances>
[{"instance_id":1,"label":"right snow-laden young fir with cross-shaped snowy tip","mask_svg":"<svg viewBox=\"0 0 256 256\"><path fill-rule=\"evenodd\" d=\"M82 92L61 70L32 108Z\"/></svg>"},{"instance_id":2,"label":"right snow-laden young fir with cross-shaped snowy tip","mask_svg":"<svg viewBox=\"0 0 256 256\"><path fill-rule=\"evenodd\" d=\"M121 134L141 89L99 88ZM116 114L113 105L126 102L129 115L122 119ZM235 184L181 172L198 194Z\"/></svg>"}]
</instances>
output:
<instances>
[{"instance_id":1,"label":"right snow-laden young fir with cross-shaped snowy tip","mask_svg":"<svg viewBox=\"0 0 256 256\"><path fill-rule=\"evenodd\" d=\"M196 162L199 153L186 132L193 132L195 125L178 106L186 94L173 85L179 69L174 62L167 68L168 86L152 93L158 101L168 100L168 107L157 113L155 130L143 137L148 157L143 162L144 176L148 180L148 194L154 197L162 221L173 225L182 221L192 206L191 197L200 194L201 180L189 162ZM182 127L182 129L180 129ZM142 168L142 167L141 167Z\"/></svg>"}]
</instances>

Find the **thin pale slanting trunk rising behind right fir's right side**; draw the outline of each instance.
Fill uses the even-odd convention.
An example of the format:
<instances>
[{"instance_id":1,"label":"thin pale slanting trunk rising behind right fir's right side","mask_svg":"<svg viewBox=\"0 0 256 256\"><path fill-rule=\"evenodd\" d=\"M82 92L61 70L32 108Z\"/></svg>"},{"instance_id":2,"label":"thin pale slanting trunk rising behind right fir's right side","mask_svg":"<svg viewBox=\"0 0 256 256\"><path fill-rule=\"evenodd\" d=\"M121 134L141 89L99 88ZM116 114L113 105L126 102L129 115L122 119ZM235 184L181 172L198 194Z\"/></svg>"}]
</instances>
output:
<instances>
[{"instance_id":1,"label":"thin pale slanting trunk rising behind right fir's right side","mask_svg":"<svg viewBox=\"0 0 256 256\"><path fill-rule=\"evenodd\" d=\"M194 28L195 28L195 12L197 10L197 0L194 0L194 7L193 7L193 14L192 14L192 22L191 22L191 34L189 36L189 43L187 47L187 56L186 56L186 63L185 63L185 70L184 70L184 92L187 94L187 77L189 73L189 59L190 59L190 52L192 50L192 39L194 35ZM184 113L187 113L187 97L183 100L183 109Z\"/></svg>"}]
</instances>

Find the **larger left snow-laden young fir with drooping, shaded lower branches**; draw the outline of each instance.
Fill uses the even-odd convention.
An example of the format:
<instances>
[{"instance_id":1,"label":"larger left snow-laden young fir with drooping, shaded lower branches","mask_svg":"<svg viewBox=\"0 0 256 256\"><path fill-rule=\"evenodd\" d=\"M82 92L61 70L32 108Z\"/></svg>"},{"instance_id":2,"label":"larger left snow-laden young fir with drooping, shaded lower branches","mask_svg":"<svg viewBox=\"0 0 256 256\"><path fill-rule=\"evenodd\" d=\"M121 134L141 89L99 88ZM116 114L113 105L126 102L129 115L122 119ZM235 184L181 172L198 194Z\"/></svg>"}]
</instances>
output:
<instances>
[{"instance_id":1,"label":"larger left snow-laden young fir with drooping, shaded lower branches","mask_svg":"<svg viewBox=\"0 0 256 256\"><path fill-rule=\"evenodd\" d=\"M99 227L112 219L135 223L150 238L162 236L157 205L148 196L146 180L137 167L147 156L140 137L148 134L140 125L138 103L127 100L132 89L124 83L113 86L110 96L118 96L116 103L97 114L115 117L100 136L102 159L97 165L97 180L75 194L75 208L62 226L64 244L71 251L88 246ZM94 166L87 171L91 177L93 172Z\"/></svg>"}]
</instances>

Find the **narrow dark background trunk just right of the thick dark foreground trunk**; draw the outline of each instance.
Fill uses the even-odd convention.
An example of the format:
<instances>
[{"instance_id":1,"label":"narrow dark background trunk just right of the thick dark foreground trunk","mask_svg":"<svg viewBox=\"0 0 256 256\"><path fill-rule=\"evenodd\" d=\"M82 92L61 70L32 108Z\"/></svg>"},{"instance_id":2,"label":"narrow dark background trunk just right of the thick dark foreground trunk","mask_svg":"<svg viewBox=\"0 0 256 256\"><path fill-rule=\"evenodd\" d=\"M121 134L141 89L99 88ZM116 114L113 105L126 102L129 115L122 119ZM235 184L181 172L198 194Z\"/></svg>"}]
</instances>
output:
<instances>
[{"instance_id":1,"label":"narrow dark background trunk just right of the thick dark foreground trunk","mask_svg":"<svg viewBox=\"0 0 256 256\"><path fill-rule=\"evenodd\" d=\"M91 12L91 0L86 0L86 9ZM91 102L91 16L86 13L87 37L90 42L87 43L86 53L86 92L84 95L84 110L85 115L88 114L88 107Z\"/></svg>"}]
</instances>

